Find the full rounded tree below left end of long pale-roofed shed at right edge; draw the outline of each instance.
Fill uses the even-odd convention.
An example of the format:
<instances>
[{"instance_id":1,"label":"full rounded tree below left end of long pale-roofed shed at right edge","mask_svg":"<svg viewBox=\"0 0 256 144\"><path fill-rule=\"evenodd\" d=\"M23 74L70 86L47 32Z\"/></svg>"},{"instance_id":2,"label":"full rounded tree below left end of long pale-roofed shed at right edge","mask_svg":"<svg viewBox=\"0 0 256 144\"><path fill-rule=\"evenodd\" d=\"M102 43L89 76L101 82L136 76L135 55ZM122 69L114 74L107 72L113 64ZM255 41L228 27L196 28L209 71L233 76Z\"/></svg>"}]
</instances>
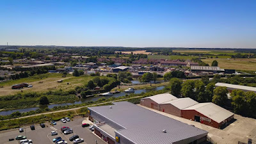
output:
<instances>
[{"instance_id":1,"label":"full rounded tree below left end of long pale-roofed shed at right edge","mask_svg":"<svg viewBox=\"0 0 256 144\"><path fill-rule=\"evenodd\" d=\"M212 97L212 102L218 106L225 106L228 99L228 90L225 86L218 86L213 90L214 95Z\"/></svg>"}]
</instances>

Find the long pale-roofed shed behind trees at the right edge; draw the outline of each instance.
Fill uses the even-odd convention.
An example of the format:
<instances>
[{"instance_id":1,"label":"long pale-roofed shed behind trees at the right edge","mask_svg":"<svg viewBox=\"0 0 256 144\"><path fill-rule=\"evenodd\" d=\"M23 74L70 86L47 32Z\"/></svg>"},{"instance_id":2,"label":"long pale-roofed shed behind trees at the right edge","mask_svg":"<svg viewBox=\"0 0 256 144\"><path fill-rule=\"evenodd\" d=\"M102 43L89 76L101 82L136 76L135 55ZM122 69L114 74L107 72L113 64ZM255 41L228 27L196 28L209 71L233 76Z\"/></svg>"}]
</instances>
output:
<instances>
[{"instance_id":1,"label":"long pale-roofed shed behind trees at the right edge","mask_svg":"<svg viewBox=\"0 0 256 144\"><path fill-rule=\"evenodd\" d=\"M215 87L217 86L225 86L227 87L228 92L232 92L232 90L243 90L244 92L255 92L256 93L256 88L251 87L251 86L241 86L237 84L228 84L228 83L216 83Z\"/></svg>"}]
</instances>

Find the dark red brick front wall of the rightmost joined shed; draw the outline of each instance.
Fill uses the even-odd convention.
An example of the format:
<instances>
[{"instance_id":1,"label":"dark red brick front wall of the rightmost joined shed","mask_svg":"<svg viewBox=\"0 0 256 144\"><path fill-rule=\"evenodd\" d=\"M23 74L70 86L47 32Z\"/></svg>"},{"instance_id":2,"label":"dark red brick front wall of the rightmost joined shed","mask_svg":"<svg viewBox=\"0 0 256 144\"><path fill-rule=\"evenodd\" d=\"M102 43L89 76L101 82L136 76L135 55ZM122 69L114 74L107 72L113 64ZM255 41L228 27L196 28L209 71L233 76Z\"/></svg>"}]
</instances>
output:
<instances>
[{"instance_id":1,"label":"dark red brick front wall of the rightmost joined shed","mask_svg":"<svg viewBox=\"0 0 256 144\"><path fill-rule=\"evenodd\" d=\"M187 119L193 120L193 121L195 120L195 115L200 116L200 117L202 116L202 117L208 118L207 116L202 115L201 113L198 113L195 110L182 110L181 113L182 113L183 118L187 118ZM214 122L213 120L211 120L211 122L207 122L207 121L202 120L202 121L200 121L200 123L205 124L205 125L209 125L211 127L216 127L218 129L221 126L220 124L218 124L217 122Z\"/></svg>"}]
</instances>

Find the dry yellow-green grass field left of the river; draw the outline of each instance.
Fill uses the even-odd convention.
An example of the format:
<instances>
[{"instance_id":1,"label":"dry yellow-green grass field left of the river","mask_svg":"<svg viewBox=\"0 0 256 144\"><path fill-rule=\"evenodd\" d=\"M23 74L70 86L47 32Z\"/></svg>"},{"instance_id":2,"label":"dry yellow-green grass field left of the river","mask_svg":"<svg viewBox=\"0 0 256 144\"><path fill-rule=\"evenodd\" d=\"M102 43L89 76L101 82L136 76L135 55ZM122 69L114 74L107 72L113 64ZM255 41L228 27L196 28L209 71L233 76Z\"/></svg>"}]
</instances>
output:
<instances>
[{"instance_id":1,"label":"dry yellow-green grass field left of the river","mask_svg":"<svg viewBox=\"0 0 256 144\"><path fill-rule=\"evenodd\" d=\"M48 90L70 90L76 88L76 86L82 86L88 83L92 79L92 76L80 76L74 77L67 75L67 77L61 77L62 74L41 74L38 76L32 76L23 79L17 79L6 83L1 83L0 96L13 95L15 93L22 92L46 92ZM40 78L42 77L42 79ZM63 80L62 83L58 83L59 80ZM40 82L40 83L39 83ZM23 88L20 90L12 90L12 84L29 83L33 84L33 88ZM67 84L68 83L68 84Z\"/></svg>"}]
</instances>

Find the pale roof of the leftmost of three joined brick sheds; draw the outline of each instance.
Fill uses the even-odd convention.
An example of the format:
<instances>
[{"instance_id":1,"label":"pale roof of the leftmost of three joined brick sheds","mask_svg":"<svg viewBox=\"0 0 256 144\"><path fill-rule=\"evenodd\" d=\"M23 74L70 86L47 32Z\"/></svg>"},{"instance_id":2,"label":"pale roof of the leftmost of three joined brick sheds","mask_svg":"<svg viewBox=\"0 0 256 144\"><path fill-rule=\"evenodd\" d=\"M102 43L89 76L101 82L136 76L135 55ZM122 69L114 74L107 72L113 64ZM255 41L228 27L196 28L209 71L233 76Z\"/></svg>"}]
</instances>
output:
<instances>
[{"instance_id":1,"label":"pale roof of the leftmost of three joined brick sheds","mask_svg":"<svg viewBox=\"0 0 256 144\"><path fill-rule=\"evenodd\" d=\"M153 95L151 97L145 97L143 99L151 99L157 104L162 104L163 102L168 102L170 100L178 99L177 97L174 97L170 93L162 93L159 95Z\"/></svg>"}]
</instances>

